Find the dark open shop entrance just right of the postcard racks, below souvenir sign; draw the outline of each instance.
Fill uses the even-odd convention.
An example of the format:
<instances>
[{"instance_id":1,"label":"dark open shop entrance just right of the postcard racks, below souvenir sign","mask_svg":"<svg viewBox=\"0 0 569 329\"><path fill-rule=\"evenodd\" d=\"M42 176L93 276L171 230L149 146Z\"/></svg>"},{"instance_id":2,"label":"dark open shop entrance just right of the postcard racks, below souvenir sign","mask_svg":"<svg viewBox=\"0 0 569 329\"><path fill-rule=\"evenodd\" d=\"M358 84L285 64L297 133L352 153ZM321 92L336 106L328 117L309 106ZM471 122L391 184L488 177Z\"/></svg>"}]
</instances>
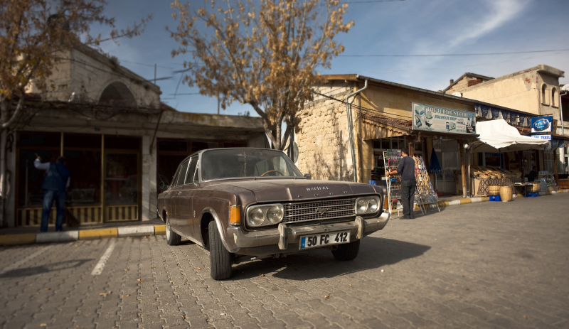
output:
<instances>
[{"instance_id":1,"label":"dark open shop entrance just right of the postcard racks, below souvenir sign","mask_svg":"<svg viewBox=\"0 0 569 329\"><path fill-rule=\"evenodd\" d=\"M458 142L454 139L434 139L432 147L437 153L442 168L442 172L437 173L435 183L437 190L445 194L457 193L454 172L460 170Z\"/></svg>"}]
</instances>

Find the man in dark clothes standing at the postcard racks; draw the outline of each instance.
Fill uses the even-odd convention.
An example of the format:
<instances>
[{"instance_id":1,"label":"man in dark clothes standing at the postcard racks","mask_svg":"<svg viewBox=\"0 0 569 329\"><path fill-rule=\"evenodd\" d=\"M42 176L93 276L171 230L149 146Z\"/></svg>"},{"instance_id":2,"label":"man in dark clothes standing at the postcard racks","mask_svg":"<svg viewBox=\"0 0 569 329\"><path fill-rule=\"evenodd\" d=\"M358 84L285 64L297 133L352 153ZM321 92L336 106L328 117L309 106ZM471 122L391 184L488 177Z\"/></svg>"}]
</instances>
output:
<instances>
[{"instance_id":1,"label":"man in dark clothes standing at the postcard racks","mask_svg":"<svg viewBox=\"0 0 569 329\"><path fill-rule=\"evenodd\" d=\"M403 219L413 220L415 213L413 208L415 204L415 160L409 156L409 149L406 147L401 150L403 158L399 160L397 170L385 171L385 176L394 175L395 173L401 175L401 203L403 204Z\"/></svg>"}]
</instances>

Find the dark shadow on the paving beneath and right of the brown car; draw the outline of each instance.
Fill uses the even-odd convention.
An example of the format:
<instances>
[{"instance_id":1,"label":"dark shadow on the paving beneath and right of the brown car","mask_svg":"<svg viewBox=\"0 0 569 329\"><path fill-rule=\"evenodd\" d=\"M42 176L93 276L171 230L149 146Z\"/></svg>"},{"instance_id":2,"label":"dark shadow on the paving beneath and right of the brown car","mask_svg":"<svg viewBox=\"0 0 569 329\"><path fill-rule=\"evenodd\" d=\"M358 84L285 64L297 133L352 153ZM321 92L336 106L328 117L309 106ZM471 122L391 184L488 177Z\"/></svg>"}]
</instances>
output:
<instances>
[{"instance_id":1,"label":"dark shadow on the paving beneath and right of the brown car","mask_svg":"<svg viewBox=\"0 0 569 329\"><path fill-rule=\"evenodd\" d=\"M273 276L285 280L331 278L420 257L430 248L394 239L365 237L361 241L358 257L353 261L336 261L329 249L316 249L312 252L292 254L286 258L238 264L233 267L231 279L250 279L274 271L276 273Z\"/></svg>"}]
</instances>

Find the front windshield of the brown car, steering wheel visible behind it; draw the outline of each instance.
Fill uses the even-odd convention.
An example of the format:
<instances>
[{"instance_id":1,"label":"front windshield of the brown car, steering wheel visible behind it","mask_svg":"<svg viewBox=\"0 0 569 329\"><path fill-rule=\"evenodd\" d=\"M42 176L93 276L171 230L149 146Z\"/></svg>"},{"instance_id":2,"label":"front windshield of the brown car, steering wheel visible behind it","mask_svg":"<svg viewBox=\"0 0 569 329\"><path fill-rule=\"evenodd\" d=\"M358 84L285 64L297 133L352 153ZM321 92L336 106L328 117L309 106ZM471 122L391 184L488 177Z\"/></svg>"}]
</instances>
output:
<instances>
[{"instance_id":1,"label":"front windshield of the brown car, steering wheel visible behind it","mask_svg":"<svg viewBox=\"0 0 569 329\"><path fill-rule=\"evenodd\" d=\"M218 149L203 152L203 180L249 177L303 177L285 153L262 149Z\"/></svg>"}]
</instances>

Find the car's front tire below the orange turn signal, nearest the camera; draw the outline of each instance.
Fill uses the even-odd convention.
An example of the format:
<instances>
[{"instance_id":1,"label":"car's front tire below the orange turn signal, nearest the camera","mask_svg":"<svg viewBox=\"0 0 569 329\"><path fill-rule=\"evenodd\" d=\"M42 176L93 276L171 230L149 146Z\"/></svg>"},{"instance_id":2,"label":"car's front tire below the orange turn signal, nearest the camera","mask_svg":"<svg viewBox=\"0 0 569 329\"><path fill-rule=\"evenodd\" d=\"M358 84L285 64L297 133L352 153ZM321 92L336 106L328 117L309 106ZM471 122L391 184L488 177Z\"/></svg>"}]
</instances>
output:
<instances>
[{"instance_id":1,"label":"car's front tire below the orange turn signal, nearest the camera","mask_svg":"<svg viewBox=\"0 0 569 329\"><path fill-rule=\"evenodd\" d=\"M209 222L208 234L211 278L214 280L229 279L231 276L231 253L223 247L218 225L215 221Z\"/></svg>"}]
</instances>

